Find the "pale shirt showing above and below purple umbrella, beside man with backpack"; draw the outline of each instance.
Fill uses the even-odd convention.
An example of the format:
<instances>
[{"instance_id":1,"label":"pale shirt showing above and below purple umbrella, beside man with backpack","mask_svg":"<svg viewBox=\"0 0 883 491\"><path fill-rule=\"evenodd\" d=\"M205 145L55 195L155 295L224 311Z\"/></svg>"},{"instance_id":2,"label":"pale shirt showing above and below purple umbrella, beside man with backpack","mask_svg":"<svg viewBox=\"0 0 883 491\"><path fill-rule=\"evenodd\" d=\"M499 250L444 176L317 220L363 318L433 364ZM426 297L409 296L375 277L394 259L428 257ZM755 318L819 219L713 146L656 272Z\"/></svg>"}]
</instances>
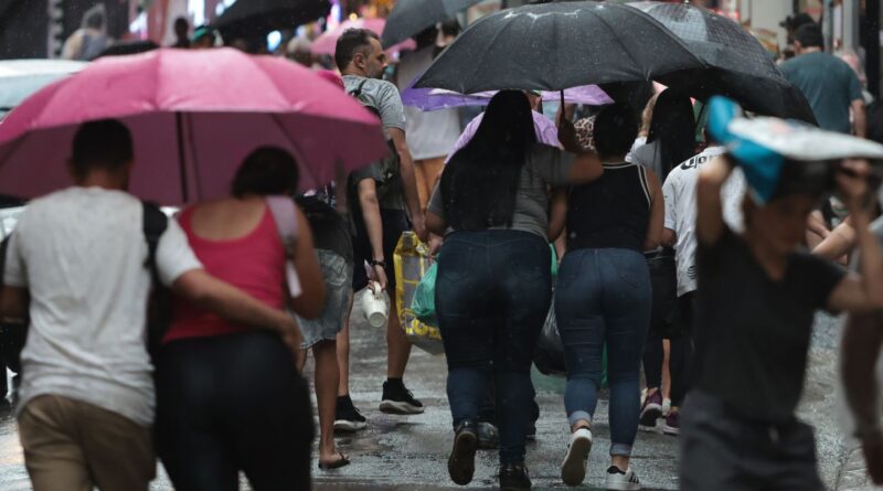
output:
<instances>
[{"instance_id":1,"label":"pale shirt showing above and below purple umbrella, beside man with backpack","mask_svg":"<svg viewBox=\"0 0 883 491\"><path fill-rule=\"evenodd\" d=\"M398 63L398 90L404 92L414 78L423 75L433 64L435 46L415 51ZM457 109L423 111L405 106L407 148L414 160L444 158L454 148L460 136L460 118Z\"/></svg>"}]
</instances>

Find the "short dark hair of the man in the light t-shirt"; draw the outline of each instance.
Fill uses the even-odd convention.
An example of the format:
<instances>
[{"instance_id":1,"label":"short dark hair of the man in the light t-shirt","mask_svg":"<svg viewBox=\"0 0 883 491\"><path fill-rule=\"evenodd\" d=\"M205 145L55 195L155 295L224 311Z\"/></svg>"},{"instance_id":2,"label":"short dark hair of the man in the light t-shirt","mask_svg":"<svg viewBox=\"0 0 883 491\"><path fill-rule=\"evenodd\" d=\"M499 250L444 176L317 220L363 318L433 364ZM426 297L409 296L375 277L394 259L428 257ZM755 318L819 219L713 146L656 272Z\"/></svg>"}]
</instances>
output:
<instances>
[{"instance_id":1,"label":"short dark hair of the man in the light t-shirt","mask_svg":"<svg viewBox=\"0 0 883 491\"><path fill-rule=\"evenodd\" d=\"M71 167L77 177L95 169L119 171L132 158L131 134L116 119L84 122L74 135Z\"/></svg>"}]
</instances>

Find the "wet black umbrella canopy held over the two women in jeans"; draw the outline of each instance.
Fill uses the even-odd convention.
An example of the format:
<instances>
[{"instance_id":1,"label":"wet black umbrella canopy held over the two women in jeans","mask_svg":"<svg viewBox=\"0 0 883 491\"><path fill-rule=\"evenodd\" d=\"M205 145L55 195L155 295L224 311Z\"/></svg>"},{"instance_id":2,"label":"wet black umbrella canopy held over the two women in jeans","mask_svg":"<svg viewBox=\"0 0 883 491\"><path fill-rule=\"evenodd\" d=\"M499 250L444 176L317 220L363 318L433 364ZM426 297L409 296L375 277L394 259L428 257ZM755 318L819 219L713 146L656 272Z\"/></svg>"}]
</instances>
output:
<instances>
[{"instance_id":1,"label":"wet black umbrella canopy held over the two women in jeans","mask_svg":"<svg viewBox=\"0 0 883 491\"><path fill-rule=\"evenodd\" d=\"M560 90L703 67L681 40L638 9L561 2L482 18L436 58L415 86L461 94Z\"/></svg>"}]
</instances>

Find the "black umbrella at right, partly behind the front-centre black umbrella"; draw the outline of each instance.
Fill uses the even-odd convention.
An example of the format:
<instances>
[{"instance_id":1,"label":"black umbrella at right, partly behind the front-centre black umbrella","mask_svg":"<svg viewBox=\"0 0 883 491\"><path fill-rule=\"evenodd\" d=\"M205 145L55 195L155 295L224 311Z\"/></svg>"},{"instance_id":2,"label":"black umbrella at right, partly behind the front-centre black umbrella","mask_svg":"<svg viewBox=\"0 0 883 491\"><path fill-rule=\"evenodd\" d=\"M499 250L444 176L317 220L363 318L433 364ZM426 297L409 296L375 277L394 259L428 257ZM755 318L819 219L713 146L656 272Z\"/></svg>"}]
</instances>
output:
<instances>
[{"instance_id":1,"label":"black umbrella at right, partly behind the front-centre black umbrella","mask_svg":"<svg viewBox=\"0 0 883 491\"><path fill-rule=\"evenodd\" d=\"M736 22L688 3L643 1L629 7L652 15L710 66L667 74L658 77L660 83L700 99L725 95L751 111L816 122L806 97Z\"/></svg>"}]
</instances>

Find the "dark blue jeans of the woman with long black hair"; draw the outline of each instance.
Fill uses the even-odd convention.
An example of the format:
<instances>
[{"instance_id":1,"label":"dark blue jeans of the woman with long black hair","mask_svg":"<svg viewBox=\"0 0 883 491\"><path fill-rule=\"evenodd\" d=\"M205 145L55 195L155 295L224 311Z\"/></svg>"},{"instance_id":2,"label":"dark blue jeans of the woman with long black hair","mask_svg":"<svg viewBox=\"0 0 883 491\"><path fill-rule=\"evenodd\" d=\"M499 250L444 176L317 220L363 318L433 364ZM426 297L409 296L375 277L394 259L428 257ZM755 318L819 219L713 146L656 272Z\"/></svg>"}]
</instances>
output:
<instances>
[{"instance_id":1,"label":"dark blue jeans of the woman with long black hair","mask_svg":"<svg viewBox=\"0 0 883 491\"><path fill-rule=\"evenodd\" d=\"M478 421L493 376L500 462L523 463L535 395L531 363L552 301L549 245L518 231L455 232L438 259L435 302L454 425Z\"/></svg>"}]
</instances>

